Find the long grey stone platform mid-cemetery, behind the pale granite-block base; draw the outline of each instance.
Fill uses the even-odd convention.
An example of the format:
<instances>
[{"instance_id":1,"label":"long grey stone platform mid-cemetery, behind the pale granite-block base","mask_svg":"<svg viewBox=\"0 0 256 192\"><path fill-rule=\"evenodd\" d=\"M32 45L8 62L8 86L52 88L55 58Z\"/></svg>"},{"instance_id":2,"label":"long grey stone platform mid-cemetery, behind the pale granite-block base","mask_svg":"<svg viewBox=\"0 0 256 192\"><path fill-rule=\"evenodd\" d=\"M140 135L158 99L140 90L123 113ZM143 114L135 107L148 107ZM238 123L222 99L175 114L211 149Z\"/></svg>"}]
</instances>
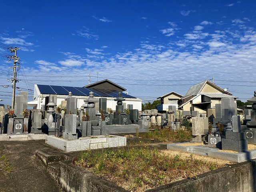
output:
<instances>
[{"instance_id":1,"label":"long grey stone platform mid-cemetery, behind the pale granite-block base","mask_svg":"<svg viewBox=\"0 0 256 192\"><path fill-rule=\"evenodd\" d=\"M148 132L147 128L140 128L139 125L106 125L106 134L122 134L122 133L145 133Z\"/></svg>"}]
</instances>

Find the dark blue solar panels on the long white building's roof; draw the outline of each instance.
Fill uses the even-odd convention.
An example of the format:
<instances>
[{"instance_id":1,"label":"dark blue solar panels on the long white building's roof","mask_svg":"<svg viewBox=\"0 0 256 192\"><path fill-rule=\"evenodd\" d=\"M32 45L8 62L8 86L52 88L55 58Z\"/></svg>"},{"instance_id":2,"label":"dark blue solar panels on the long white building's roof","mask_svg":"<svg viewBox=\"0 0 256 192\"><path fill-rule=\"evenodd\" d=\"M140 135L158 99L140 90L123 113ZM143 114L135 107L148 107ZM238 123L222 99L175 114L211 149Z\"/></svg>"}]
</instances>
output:
<instances>
[{"instance_id":1,"label":"dark blue solar panels on the long white building's roof","mask_svg":"<svg viewBox=\"0 0 256 192\"><path fill-rule=\"evenodd\" d=\"M117 90L109 89L96 89L96 88L83 88L83 87L69 87L69 86L56 86L56 85L37 85L41 94L56 94L68 95L72 92L75 96L89 96L89 92L94 92L94 96L98 97L114 97L118 96ZM128 94L122 93L123 98L136 98Z\"/></svg>"}]
</instances>

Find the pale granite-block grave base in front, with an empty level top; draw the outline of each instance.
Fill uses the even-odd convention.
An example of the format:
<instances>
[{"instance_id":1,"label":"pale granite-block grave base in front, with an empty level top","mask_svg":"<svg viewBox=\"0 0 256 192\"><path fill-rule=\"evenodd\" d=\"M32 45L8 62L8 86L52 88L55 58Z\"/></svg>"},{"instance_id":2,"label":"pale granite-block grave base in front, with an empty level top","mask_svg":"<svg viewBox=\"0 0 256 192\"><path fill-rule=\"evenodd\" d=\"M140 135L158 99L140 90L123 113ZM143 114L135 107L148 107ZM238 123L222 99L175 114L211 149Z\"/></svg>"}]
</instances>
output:
<instances>
[{"instance_id":1,"label":"pale granite-block grave base in front, with an empty level top","mask_svg":"<svg viewBox=\"0 0 256 192\"><path fill-rule=\"evenodd\" d=\"M86 136L74 140L47 136L45 144L65 152L93 150L110 147L126 146L126 137L115 135Z\"/></svg>"}]
</instances>

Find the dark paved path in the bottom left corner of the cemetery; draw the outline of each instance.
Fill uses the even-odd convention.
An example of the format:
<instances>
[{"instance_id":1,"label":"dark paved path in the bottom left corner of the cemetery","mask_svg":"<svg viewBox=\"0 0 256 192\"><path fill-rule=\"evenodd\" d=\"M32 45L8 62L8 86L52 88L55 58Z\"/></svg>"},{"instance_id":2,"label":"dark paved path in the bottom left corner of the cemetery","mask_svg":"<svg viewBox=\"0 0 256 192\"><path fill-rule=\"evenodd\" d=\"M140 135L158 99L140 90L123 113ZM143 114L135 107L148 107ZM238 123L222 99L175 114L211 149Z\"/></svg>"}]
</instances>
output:
<instances>
[{"instance_id":1,"label":"dark paved path in the bottom left corner of the cemetery","mask_svg":"<svg viewBox=\"0 0 256 192\"><path fill-rule=\"evenodd\" d=\"M0 142L0 157L6 156L13 168L12 172L6 172L5 164L0 160L0 192L62 192L35 156L38 149L51 149L44 142L45 140Z\"/></svg>"}]
</instances>

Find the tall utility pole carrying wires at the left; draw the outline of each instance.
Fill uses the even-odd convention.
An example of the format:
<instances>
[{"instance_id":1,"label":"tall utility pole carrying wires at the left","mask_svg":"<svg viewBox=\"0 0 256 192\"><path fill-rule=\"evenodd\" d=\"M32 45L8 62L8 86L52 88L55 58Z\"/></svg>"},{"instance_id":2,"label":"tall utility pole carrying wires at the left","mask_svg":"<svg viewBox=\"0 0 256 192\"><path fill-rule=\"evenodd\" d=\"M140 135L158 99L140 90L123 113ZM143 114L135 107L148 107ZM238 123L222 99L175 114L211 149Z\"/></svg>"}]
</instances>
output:
<instances>
[{"instance_id":1,"label":"tall utility pole carrying wires at the left","mask_svg":"<svg viewBox=\"0 0 256 192\"><path fill-rule=\"evenodd\" d=\"M16 78L17 71L16 71L16 68L20 68L20 66L16 66L16 63L18 63L18 61L20 60L20 58L17 57L17 50L20 50L20 48L14 47L14 48L10 49L10 52L14 53L14 56L12 56L12 58L11 58L13 60L13 67L10 67L10 68L13 68L13 78L11 80L11 82L12 82L12 109L14 109L15 88L16 88L16 82L17 82L17 78Z\"/></svg>"}]
</instances>

